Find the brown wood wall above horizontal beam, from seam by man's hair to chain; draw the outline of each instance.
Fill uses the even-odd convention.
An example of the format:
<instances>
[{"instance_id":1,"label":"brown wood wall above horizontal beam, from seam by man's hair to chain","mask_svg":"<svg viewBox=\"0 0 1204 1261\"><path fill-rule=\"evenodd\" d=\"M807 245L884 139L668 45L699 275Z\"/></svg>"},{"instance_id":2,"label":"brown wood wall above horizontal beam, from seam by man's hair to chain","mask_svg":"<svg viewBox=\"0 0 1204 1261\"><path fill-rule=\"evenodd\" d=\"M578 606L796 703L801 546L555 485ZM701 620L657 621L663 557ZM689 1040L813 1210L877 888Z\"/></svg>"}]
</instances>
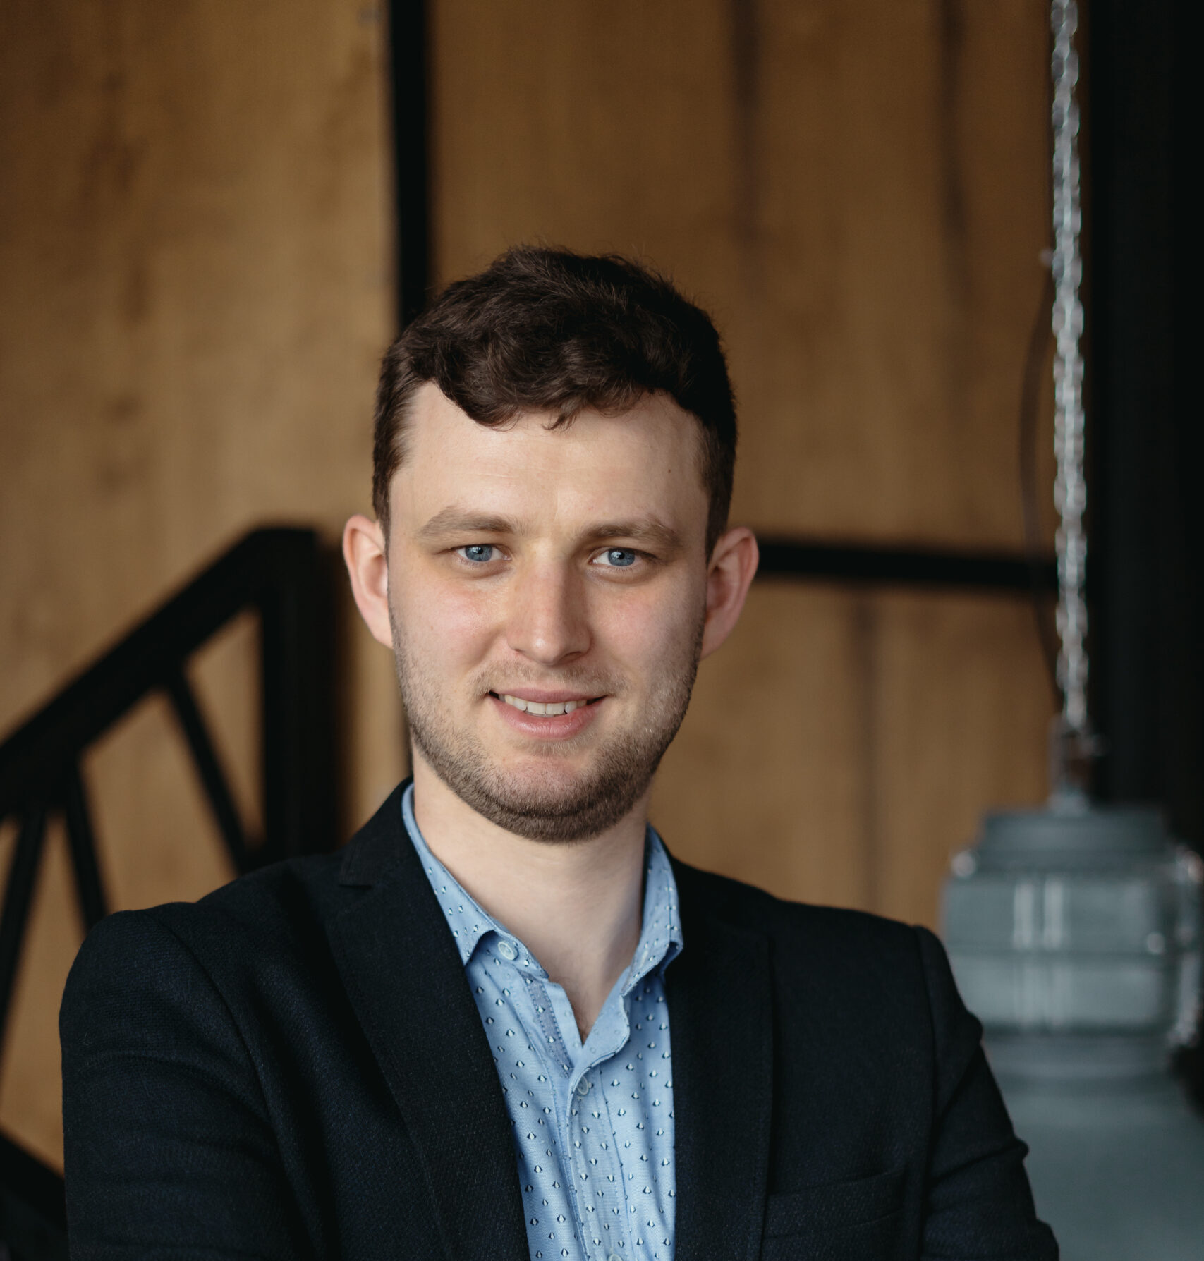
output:
<instances>
[{"instance_id":1,"label":"brown wood wall above horizontal beam, from seam by man's hair to chain","mask_svg":"<svg viewBox=\"0 0 1204 1261\"><path fill-rule=\"evenodd\" d=\"M775 531L1015 546L1048 237L1045 6L753 11L736 511Z\"/></svg>"}]
</instances>

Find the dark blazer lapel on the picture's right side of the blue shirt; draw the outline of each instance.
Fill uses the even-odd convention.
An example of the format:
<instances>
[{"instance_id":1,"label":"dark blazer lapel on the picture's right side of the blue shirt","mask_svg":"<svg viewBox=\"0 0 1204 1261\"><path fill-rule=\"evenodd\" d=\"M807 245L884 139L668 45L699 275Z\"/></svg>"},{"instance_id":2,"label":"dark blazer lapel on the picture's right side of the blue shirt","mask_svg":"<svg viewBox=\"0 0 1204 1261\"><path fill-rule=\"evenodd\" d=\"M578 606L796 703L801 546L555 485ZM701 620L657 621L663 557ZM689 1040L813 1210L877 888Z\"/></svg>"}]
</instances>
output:
<instances>
[{"instance_id":1,"label":"dark blazer lapel on the picture's right side of the blue shirt","mask_svg":"<svg viewBox=\"0 0 1204 1261\"><path fill-rule=\"evenodd\" d=\"M677 1261L760 1252L773 1111L773 995L763 933L706 907L674 863L685 946L666 971L673 1054Z\"/></svg>"}]
</instances>

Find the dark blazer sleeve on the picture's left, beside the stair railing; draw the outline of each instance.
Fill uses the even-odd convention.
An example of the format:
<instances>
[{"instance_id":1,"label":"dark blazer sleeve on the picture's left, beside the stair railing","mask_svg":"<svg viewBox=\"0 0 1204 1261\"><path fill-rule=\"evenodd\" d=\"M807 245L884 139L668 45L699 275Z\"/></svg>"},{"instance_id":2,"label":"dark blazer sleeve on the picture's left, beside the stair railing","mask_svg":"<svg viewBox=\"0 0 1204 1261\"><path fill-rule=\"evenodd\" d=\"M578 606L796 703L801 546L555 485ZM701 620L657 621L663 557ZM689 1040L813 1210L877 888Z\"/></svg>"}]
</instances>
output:
<instances>
[{"instance_id":1,"label":"dark blazer sleeve on the picture's left, beside the stair railing","mask_svg":"<svg viewBox=\"0 0 1204 1261\"><path fill-rule=\"evenodd\" d=\"M73 1261L306 1255L236 1020L154 912L92 931L59 1034Z\"/></svg>"}]
</instances>

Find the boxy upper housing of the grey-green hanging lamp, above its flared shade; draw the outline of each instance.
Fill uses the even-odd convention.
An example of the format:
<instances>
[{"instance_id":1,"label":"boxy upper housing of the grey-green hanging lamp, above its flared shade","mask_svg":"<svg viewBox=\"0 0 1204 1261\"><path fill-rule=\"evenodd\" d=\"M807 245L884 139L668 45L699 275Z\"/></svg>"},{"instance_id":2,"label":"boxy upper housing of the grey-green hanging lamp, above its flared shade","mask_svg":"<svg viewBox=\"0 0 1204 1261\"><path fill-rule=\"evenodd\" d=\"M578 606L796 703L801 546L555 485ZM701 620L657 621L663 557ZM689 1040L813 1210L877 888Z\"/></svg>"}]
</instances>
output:
<instances>
[{"instance_id":1,"label":"boxy upper housing of the grey-green hanging lamp, above its flared shade","mask_svg":"<svg viewBox=\"0 0 1204 1261\"><path fill-rule=\"evenodd\" d=\"M987 816L953 861L944 934L1000 1077L1162 1071L1198 1023L1200 866L1155 810Z\"/></svg>"}]
</instances>

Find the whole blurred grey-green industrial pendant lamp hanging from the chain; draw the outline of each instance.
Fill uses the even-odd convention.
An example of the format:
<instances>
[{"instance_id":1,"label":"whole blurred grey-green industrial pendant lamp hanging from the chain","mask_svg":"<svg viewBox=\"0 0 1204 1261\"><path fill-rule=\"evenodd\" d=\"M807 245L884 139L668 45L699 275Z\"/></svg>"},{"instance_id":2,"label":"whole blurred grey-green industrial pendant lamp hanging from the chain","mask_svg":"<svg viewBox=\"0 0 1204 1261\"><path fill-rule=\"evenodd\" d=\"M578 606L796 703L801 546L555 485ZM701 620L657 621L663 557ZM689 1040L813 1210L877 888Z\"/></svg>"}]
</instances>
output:
<instances>
[{"instance_id":1,"label":"whole blurred grey-green industrial pendant lamp hanging from the chain","mask_svg":"<svg viewBox=\"0 0 1204 1261\"><path fill-rule=\"evenodd\" d=\"M987 816L944 936L1063 1261L1204 1256L1204 1119L1166 1072L1198 1035L1201 863L1159 813Z\"/></svg>"}]
</instances>

